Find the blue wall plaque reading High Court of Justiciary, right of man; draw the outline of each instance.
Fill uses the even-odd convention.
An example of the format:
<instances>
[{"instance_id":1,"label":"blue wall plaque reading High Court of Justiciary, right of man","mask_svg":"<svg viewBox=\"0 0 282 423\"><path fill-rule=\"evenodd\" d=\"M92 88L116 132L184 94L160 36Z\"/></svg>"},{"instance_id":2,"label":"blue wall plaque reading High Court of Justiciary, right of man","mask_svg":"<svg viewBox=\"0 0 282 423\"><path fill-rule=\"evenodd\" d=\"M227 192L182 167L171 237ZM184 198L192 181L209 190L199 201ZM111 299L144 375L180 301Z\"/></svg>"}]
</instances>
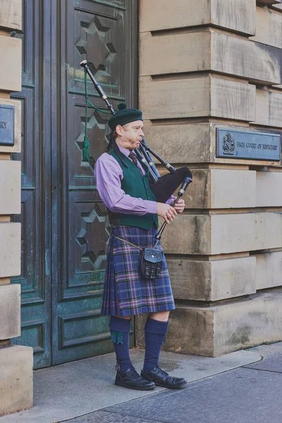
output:
<instances>
[{"instance_id":1,"label":"blue wall plaque reading High Court of Justiciary, right of man","mask_svg":"<svg viewBox=\"0 0 282 423\"><path fill-rule=\"evenodd\" d=\"M281 160L281 135L216 128L216 157Z\"/></svg>"}]
</instances>

